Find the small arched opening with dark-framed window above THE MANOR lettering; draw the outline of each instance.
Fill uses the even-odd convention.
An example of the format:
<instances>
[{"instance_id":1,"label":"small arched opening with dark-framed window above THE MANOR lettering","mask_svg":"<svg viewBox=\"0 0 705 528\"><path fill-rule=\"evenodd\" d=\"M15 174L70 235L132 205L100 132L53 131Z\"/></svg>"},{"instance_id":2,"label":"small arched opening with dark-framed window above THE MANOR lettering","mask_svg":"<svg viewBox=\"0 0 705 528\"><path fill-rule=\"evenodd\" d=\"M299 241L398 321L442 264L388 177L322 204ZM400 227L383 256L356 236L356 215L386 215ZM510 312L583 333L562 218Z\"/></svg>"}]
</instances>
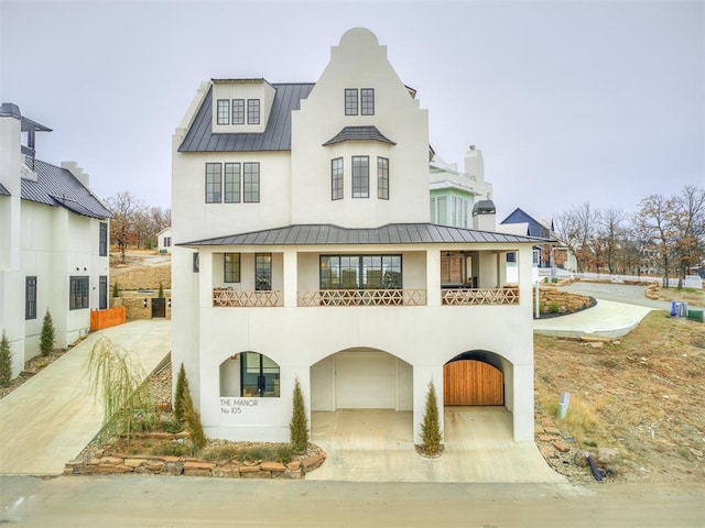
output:
<instances>
[{"instance_id":1,"label":"small arched opening with dark-framed window above THE MANOR lettering","mask_svg":"<svg viewBox=\"0 0 705 528\"><path fill-rule=\"evenodd\" d=\"M280 397L280 367L258 352L240 352L220 363L220 397Z\"/></svg>"}]
</instances>

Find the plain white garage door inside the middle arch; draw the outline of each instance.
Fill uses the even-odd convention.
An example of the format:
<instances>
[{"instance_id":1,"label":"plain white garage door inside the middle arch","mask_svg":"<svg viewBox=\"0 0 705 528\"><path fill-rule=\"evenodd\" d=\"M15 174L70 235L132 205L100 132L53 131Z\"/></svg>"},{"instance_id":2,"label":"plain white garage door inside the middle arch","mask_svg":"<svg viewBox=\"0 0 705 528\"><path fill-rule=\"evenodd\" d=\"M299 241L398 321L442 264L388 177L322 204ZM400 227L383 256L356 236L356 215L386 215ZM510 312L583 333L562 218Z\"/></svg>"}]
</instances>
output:
<instances>
[{"instance_id":1,"label":"plain white garage door inside the middle arch","mask_svg":"<svg viewBox=\"0 0 705 528\"><path fill-rule=\"evenodd\" d=\"M384 352L340 352L335 355L338 409L393 409L397 360Z\"/></svg>"}]
</instances>

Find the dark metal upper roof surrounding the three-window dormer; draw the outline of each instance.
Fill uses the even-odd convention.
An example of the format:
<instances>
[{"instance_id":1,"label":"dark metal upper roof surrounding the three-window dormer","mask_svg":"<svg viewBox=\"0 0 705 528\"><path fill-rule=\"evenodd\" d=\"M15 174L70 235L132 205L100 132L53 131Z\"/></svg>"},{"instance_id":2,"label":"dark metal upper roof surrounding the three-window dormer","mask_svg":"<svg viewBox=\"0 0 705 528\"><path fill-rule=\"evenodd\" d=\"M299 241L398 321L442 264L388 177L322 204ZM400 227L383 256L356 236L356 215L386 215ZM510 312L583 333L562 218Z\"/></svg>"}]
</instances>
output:
<instances>
[{"instance_id":1,"label":"dark metal upper roof surrounding the three-window dormer","mask_svg":"<svg viewBox=\"0 0 705 528\"><path fill-rule=\"evenodd\" d=\"M178 152L253 152L291 150L291 112L299 110L315 84L273 84L275 95L264 132L213 132L213 86L206 94Z\"/></svg>"}]
</instances>

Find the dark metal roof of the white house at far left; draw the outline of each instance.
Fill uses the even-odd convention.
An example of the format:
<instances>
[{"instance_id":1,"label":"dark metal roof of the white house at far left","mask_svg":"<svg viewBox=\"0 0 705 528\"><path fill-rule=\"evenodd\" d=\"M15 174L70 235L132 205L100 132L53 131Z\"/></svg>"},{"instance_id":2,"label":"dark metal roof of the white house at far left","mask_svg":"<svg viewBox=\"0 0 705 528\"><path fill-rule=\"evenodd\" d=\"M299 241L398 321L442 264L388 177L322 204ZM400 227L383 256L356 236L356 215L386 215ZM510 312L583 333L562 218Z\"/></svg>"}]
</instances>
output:
<instances>
[{"instance_id":1,"label":"dark metal roof of the white house at far left","mask_svg":"<svg viewBox=\"0 0 705 528\"><path fill-rule=\"evenodd\" d=\"M23 199L62 206L85 217L112 218L112 213L70 170L34 160L34 172L36 182L22 178L20 183Z\"/></svg>"}]
</instances>

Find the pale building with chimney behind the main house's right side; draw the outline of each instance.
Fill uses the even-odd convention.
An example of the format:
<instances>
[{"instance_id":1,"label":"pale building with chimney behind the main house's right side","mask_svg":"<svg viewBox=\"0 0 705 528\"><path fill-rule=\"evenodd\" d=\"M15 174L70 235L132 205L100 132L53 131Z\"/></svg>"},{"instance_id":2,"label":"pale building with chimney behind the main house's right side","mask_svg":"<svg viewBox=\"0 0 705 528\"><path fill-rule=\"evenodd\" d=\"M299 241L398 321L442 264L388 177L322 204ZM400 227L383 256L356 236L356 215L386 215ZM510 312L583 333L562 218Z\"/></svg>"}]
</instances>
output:
<instances>
[{"instance_id":1,"label":"pale building with chimney behind the main house's right side","mask_svg":"<svg viewBox=\"0 0 705 528\"><path fill-rule=\"evenodd\" d=\"M473 227L473 208L492 199L492 184L485 182L482 152L470 145L465 153L465 172L434 154L431 173L431 222L455 228Z\"/></svg>"}]
</instances>

